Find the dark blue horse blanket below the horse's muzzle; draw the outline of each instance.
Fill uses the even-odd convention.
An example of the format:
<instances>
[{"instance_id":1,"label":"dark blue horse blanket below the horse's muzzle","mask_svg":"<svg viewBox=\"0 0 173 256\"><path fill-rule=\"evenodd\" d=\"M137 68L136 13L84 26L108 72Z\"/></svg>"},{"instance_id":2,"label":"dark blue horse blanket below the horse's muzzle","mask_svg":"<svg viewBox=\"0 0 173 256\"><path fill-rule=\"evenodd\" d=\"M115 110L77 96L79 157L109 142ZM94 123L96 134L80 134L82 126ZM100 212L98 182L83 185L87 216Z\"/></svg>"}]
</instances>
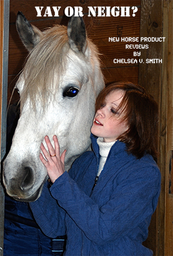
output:
<instances>
[{"instance_id":1,"label":"dark blue horse blanket below the horse's muzzle","mask_svg":"<svg viewBox=\"0 0 173 256\"><path fill-rule=\"evenodd\" d=\"M45 236L39 227L36 228L28 203L6 195L3 256L52 256L51 245L52 239Z\"/></svg>"}]
</instances>

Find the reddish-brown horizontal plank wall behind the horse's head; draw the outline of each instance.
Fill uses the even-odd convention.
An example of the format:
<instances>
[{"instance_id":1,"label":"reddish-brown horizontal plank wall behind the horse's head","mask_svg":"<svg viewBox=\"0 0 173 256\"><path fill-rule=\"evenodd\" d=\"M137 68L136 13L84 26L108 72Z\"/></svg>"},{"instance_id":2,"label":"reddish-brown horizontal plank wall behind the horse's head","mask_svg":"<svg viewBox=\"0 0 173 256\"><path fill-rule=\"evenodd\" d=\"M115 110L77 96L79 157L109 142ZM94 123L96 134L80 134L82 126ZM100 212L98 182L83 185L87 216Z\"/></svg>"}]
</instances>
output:
<instances>
[{"instance_id":1,"label":"reddish-brown horizontal plank wall behind the horse's head","mask_svg":"<svg viewBox=\"0 0 173 256\"><path fill-rule=\"evenodd\" d=\"M88 17L88 6L137 6L136 16L130 17ZM36 17L35 6L61 6L59 17ZM9 92L8 100L12 94L17 74L21 71L27 50L22 45L16 31L16 14L18 10L36 27L43 30L53 24L67 25L69 18L64 15L67 6L82 6L86 31L89 38L99 47L103 74L107 83L114 81L138 82L138 64L114 64L114 58L134 58L132 49L125 49L125 42L109 42L109 37L138 37L140 36L140 0L10 0L10 34L9 34ZM52 12L53 13L53 12ZM130 11L130 14L132 10ZM14 93L11 103L17 98Z\"/></svg>"}]
</instances>

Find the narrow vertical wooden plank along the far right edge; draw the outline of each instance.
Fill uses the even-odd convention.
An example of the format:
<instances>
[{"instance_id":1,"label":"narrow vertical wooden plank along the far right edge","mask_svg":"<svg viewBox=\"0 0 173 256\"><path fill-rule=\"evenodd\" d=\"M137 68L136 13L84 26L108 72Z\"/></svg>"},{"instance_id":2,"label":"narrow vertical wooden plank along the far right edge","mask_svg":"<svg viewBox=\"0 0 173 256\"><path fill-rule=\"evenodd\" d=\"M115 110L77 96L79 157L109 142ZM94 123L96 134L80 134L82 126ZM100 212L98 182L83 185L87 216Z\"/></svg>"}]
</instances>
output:
<instances>
[{"instance_id":1,"label":"narrow vertical wooden plank along the far right edge","mask_svg":"<svg viewBox=\"0 0 173 256\"><path fill-rule=\"evenodd\" d=\"M163 33L167 38L164 47L166 59L164 62L163 85L167 87L167 145L166 145L166 213L165 213L165 250L164 255L173 255L173 2L163 1Z\"/></svg>"}]
</instances>

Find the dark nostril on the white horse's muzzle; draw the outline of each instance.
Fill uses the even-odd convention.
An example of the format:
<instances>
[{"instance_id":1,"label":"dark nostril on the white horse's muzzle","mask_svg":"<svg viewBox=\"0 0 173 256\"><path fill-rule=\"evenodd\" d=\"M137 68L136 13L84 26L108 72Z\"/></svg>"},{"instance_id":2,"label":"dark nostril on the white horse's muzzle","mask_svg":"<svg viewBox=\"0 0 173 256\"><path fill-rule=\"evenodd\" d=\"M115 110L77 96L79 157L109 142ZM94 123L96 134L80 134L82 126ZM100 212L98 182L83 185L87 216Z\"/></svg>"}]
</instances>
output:
<instances>
[{"instance_id":1,"label":"dark nostril on the white horse's muzzle","mask_svg":"<svg viewBox=\"0 0 173 256\"><path fill-rule=\"evenodd\" d=\"M34 184L34 175L31 167L24 167L23 181L21 184L22 190L28 190Z\"/></svg>"}]
</instances>

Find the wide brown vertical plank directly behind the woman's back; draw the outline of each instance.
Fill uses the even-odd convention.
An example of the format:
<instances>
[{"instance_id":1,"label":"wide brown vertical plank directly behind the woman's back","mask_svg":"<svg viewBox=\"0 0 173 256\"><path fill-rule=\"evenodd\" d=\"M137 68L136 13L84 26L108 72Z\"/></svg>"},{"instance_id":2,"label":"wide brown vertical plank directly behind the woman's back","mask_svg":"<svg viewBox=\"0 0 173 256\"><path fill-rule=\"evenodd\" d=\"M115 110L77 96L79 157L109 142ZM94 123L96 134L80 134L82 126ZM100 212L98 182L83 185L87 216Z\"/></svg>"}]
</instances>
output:
<instances>
[{"instance_id":1,"label":"wide brown vertical plank directly behind the woman's back","mask_svg":"<svg viewBox=\"0 0 173 256\"><path fill-rule=\"evenodd\" d=\"M163 30L163 1L141 1L141 27L140 37L161 37ZM149 42L148 50L141 50L141 58L144 63L139 64L139 83L153 95L159 104L159 159L162 182L159 204L153 215L149 236L144 245L153 250L154 255L164 255L164 203L165 203L165 168L166 168L166 90L162 86L162 64L147 64L147 58L162 59L163 42Z\"/></svg>"}]
</instances>

